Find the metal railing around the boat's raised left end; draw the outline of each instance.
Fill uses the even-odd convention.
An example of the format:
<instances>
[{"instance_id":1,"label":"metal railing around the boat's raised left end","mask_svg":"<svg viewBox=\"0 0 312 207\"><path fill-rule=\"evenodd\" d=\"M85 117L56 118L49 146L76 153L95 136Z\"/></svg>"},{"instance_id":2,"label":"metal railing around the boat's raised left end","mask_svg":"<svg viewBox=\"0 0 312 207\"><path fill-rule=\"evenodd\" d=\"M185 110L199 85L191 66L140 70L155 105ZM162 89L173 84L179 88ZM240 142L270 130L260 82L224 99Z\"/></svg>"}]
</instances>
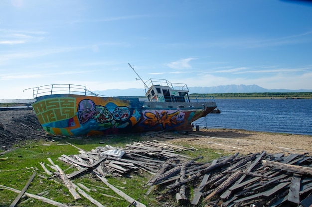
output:
<instances>
[{"instance_id":1,"label":"metal railing around the boat's raised left end","mask_svg":"<svg viewBox=\"0 0 312 207\"><path fill-rule=\"evenodd\" d=\"M44 96L44 95L53 95L53 94L76 94L76 95L85 95L85 96L103 96L93 93L86 89L86 86L74 85L74 84L51 84L43 85L33 88L27 88L25 90L32 89L33 98ZM24 90L24 91L25 91Z\"/></svg>"}]
</instances>

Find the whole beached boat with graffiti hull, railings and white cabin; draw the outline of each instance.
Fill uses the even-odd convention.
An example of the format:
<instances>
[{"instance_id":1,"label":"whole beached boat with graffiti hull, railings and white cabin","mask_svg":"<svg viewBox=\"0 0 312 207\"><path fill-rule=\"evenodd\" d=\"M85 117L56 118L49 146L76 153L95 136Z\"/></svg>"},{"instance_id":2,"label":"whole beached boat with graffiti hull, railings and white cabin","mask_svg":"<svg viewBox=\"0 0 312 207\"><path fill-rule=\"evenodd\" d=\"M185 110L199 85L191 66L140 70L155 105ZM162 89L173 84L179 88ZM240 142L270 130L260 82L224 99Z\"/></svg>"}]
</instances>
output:
<instances>
[{"instance_id":1,"label":"whole beached boat with graffiti hull, railings and white cabin","mask_svg":"<svg viewBox=\"0 0 312 207\"><path fill-rule=\"evenodd\" d=\"M192 131L193 121L217 107L213 97L191 101L186 84L150 79L144 85L144 101L105 97L72 84L28 89L33 90L32 107L43 129L64 136Z\"/></svg>"}]
</instances>

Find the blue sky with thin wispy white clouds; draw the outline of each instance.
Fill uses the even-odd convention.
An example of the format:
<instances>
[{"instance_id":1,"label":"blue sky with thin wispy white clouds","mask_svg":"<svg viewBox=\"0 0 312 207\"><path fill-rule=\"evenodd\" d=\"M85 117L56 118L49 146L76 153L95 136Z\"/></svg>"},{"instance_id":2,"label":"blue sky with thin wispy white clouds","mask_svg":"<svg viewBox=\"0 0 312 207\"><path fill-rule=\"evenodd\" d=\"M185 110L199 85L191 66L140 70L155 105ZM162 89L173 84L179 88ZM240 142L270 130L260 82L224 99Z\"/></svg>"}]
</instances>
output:
<instances>
[{"instance_id":1,"label":"blue sky with thin wispy white clouds","mask_svg":"<svg viewBox=\"0 0 312 207\"><path fill-rule=\"evenodd\" d=\"M143 80L189 87L312 90L312 3L0 1L0 99L58 83L144 88L128 63Z\"/></svg>"}]
</instances>

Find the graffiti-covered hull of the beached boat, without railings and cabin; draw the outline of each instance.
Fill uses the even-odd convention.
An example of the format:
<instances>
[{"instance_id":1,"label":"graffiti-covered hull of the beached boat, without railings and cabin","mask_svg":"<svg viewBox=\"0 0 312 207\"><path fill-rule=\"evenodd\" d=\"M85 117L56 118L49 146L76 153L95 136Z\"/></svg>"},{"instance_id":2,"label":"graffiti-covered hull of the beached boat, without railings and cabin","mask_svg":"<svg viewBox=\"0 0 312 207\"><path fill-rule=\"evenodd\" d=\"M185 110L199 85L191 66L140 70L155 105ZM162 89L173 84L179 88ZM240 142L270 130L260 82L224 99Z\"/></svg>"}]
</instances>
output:
<instances>
[{"instance_id":1,"label":"graffiti-covered hull of the beached boat, without railings and cabin","mask_svg":"<svg viewBox=\"0 0 312 207\"><path fill-rule=\"evenodd\" d=\"M191 131L193 121L216 108L215 102L145 102L73 94L36 99L32 107L43 129L64 136Z\"/></svg>"}]
</instances>

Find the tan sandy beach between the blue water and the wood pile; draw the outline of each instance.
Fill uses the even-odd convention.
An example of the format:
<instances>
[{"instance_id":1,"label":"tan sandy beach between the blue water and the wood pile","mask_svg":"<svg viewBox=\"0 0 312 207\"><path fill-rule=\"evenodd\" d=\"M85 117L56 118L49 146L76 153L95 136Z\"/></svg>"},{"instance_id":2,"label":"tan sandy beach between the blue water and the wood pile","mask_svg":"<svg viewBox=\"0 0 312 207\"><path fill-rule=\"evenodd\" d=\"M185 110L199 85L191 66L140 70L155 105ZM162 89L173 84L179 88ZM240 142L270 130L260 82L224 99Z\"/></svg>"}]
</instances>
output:
<instances>
[{"instance_id":1,"label":"tan sandy beach between the blue water and the wood pile","mask_svg":"<svg viewBox=\"0 0 312 207\"><path fill-rule=\"evenodd\" d=\"M192 136L195 135L195 136ZM282 133L254 132L236 129L200 129L191 132L190 137L169 142L187 142L190 146L224 150L228 153L249 154L267 153L303 154L312 153L312 136Z\"/></svg>"}]
</instances>

